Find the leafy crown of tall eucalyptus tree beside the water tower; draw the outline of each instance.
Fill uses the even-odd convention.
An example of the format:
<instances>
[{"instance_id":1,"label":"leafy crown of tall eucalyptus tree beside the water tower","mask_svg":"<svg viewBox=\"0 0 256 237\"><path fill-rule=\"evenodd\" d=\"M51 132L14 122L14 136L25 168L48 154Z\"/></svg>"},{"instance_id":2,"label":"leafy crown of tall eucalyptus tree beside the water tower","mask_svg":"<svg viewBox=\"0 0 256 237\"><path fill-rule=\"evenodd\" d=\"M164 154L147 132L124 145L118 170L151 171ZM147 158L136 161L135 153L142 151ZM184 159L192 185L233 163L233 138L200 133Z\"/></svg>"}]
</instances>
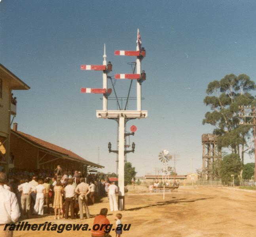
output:
<instances>
[{"instance_id":1,"label":"leafy crown of tall eucalyptus tree beside the water tower","mask_svg":"<svg viewBox=\"0 0 256 237\"><path fill-rule=\"evenodd\" d=\"M218 135L219 148L226 147L233 154L239 154L242 163L245 152L250 152L251 126L239 126L239 106L256 105L251 92L256 89L254 81L245 74L226 75L215 80L207 87L205 105L210 111L205 114L203 124L214 126L213 133Z\"/></svg>"}]
</instances>

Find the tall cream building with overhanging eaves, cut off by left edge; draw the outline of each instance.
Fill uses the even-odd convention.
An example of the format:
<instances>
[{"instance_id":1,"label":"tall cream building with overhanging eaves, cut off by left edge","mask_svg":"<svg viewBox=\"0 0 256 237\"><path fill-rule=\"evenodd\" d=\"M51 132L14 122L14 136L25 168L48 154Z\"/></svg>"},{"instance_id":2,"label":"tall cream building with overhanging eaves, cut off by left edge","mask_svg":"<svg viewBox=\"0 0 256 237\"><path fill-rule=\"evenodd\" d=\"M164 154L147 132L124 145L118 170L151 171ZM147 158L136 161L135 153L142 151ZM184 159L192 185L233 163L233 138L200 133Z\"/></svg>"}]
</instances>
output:
<instances>
[{"instance_id":1,"label":"tall cream building with overhanging eaves, cut off by left edge","mask_svg":"<svg viewBox=\"0 0 256 237\"><path fill-rule=\"evenodd\" d=\"M12 167L10 157L11 115L17 111L17 100L12 96L13 90L28 90L30 87L19 77L0 64L0 171L8 172Z\"/></svg>"}]
</instances>

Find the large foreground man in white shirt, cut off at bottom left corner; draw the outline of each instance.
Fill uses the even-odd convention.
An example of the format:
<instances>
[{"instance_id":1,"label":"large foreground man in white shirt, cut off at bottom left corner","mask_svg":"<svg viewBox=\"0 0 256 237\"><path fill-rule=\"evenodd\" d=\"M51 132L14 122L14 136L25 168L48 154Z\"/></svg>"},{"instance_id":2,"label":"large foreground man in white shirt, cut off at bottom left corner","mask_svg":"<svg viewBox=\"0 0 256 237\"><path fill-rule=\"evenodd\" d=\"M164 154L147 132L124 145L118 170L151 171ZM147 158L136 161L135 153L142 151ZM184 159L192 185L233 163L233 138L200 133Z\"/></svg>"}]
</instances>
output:
<instances>
[{"instance_id":1,"label":"large foreground man in white shirt, cut off at bottom left corner","mask_svg":"<svg viewBox=\"0 0 256 237\"><path fill-rule=\"evenodd\" d=\"M15 194L4 188L4 184L6 183L6 174L0 172L0 236L12 237L13 231L4 230L5 224L16 222L21 213Z\"/></svg>"}]
</instances>

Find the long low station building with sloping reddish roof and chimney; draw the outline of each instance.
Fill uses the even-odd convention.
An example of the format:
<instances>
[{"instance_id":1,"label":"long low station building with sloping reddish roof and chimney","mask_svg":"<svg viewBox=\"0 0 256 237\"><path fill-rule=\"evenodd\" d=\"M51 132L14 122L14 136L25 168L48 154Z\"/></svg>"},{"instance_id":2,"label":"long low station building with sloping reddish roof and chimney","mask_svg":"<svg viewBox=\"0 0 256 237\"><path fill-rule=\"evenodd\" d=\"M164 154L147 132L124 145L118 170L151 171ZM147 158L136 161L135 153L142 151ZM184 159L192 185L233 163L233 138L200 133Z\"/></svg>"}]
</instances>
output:
<instances>
[{"instance_id":1,"label":"long low station building with sloping reddish roof and chimney","mask_svg":"<svg viewBox=\"0 0 256 237\"><path fill-rule=\"evenodd\" d=\"M77 170L82 173L104 168L85 160L71 150L20 132L17 125L13 124L10 139L11 159L15 168L54 170L57 165L61 165L64 170Z\"/></svg>"}]
</instances>

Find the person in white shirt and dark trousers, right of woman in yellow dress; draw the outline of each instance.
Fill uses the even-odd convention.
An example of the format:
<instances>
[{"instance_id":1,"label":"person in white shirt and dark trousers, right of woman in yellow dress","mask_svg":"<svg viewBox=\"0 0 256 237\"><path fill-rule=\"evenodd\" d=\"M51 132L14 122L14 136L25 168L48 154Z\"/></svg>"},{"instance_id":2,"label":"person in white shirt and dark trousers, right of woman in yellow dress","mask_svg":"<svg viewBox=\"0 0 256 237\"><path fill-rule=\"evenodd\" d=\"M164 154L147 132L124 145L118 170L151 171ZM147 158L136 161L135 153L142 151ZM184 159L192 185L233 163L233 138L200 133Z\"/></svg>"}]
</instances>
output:
<instances>
[{"instance_id":1,"label":"person in white shirt and dark trousers, right of woman in yellow dress","mask_svg":"<svg viewBox=\"0 0 256 237\"><path fill-rule=\"evenodd\" d=\"M74 207L75 207L75 190L76 187L73 184L73 179L68 179L68 185L64 188L65 191L65 219L68 219L68 211L70 206L71 219L74 219Z\"/></svg>"}]
</instances>

